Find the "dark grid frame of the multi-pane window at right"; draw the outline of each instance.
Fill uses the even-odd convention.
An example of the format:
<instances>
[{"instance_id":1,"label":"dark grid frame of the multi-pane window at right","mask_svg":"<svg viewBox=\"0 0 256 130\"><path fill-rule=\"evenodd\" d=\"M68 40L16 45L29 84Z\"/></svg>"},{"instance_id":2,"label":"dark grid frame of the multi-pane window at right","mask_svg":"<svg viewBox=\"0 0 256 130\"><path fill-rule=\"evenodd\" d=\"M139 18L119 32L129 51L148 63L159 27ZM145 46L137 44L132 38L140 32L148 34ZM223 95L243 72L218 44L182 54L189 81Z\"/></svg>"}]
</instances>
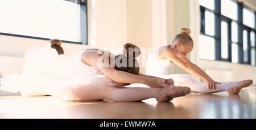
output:
<instances>
[{"instance_id":1,"label":"dark grid frame of the multi-pane window at right","mask_svg":"<svg viewBox=\"0 0 256 130\"><path fill-rule=\"evenodd\" d=\"M238 20L230 19L227 16L224 16L221 14L221 0L214 1L214 7L215 7L214 10L210 10L209 8L200 5L200 23L201 23L200 34L214 38L214 40L215 40L215 60L232 63L232 44L237 44L238 45L238 63L251 65L251 49L256 50L256 44L254 47L251 46L250 32L252 32L252 31L254 32L255 39L256 39L256 12L254 11L255 28L248 27L247 25L243 24L243 8L249 8L249 7L243 5L242 2L238 2L238 1L234 1L234 2L236 2L237 6L238 6L238 10L237 10L238 11ZM215 29L214 36L210 36L205 33L205 11L210 11L215 16L214 25L215 25L216 29ZM226 59L221 57L221 22L222 21L225 21L228 24L228 58L226 58ZM237 25L238 25L238 32L237 32L238 33L238 42L232 41L232 22L237 23ZM243 43L243 30L247 31L247 43ZM248 55L247 62L243 61L243 44L247 44L247 55ZM256 60L256 53L255 53L255 60Z\"/></svg>"}]
</instances>

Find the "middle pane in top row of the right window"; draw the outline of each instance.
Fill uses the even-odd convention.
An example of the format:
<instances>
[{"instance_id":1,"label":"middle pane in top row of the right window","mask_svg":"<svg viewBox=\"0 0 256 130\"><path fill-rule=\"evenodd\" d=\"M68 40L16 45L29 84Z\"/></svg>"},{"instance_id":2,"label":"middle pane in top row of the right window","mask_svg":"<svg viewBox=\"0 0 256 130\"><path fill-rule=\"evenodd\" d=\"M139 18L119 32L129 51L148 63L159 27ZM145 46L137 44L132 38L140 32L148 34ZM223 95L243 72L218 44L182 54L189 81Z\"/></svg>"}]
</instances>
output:
<instances>
[{"instance_id":1,"label":"middle pane in top row of the right window","mask_svg":"<svg viewBox=\"0 0 256 130\"><path fill-rule=\"evenodd\" d=\"M228 7L227 7L228 6ZM221 14L230 19L237 20L238 5L232 0L221 0Z\"/></svg>"}]
</instances>

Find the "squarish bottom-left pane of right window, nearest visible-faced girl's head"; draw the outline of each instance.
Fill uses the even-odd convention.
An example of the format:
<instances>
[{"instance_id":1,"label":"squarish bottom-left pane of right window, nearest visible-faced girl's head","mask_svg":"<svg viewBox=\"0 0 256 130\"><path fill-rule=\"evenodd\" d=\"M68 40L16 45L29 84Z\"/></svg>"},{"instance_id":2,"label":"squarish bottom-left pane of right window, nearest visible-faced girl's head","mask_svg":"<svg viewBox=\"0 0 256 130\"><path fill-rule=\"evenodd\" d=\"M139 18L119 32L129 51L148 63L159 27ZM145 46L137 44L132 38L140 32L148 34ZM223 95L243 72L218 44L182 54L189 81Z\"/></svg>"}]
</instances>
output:
<instances>
[{"instance_id":1,"label":"squarish bottom-left pane of right window, nearest visible-faced girl's head","mask_svg":"<svg viewBox=\"0 0 256 130\"><path fill-rule=\"evenodd\" d=\"M200 35L199 36L199 58L215 59L214 38Z\"/></svg>"}]
</instances>

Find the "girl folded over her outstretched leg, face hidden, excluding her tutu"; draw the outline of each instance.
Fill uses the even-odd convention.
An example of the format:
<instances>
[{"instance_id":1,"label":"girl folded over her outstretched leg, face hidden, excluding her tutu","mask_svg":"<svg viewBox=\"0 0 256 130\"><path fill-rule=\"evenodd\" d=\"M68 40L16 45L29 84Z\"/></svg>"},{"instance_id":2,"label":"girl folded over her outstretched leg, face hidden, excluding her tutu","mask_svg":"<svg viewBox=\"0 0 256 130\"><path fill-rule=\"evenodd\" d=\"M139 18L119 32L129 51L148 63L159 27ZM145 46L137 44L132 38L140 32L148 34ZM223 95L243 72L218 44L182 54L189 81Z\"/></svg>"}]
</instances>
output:
<instances>
[{"instance_id":1,"label":"girl folded over her outstretched leg, face hidden, excluding her tutu","mask_svg":"<svg viewBox=\"0 0 256 130\"><path fill-rule=\"evenodd\" d=\"M139 50L139 48L133 44L126 44L124 50L127 53L116 56L108 51L98 51L98 49L79 51L76 57L80 60L80 63L84 65L86 71L89 71L88 68L93 67L96 68L96 72L100 71L106 77L94 77L91 83L64 88L61 96L62 99L65 101L97 101L100 99L109 99L112 101L141 101L143 99L156 98L158 102L169 102L175 97L185 96L190 92L190 89L185 86L175 87L175 89L173 89L172 86L166 86L173 84L171 79L165 80L159 77L148 77L139 73L138 62L135 59L138 55L135 53L129 54L129 48ZM106 67L99 65L98 59L100 58L108 61ZM121 64L126 60L125 65L127 65L127 67L118 67L118 59L121 59L119 60ZM114 66L110 63L113 62L113 60L115 60ZM130 66L131 64L132 66ZM114 84L108 82L105 78L113 80ZM96 84L98 82L101 83ZM125 85L132 83L142 83L151 88L125 87Z\"/></svg>"}]
</instances>

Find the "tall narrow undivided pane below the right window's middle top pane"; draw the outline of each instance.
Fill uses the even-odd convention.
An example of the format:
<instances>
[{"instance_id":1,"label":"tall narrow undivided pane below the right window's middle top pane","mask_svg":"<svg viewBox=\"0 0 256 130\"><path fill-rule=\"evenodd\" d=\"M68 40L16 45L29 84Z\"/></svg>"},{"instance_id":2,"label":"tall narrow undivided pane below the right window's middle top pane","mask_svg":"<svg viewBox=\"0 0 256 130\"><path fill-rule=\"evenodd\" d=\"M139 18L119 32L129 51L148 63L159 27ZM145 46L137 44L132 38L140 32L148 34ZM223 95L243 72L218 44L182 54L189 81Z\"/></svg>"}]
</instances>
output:
<instances>
[{"instance_id":1,"label":"tall narrow undivided pane below the right window's middle top pane","mask_svg":"<svg viewBox=\"0 0 256 130\"><path fill-rule=\"evenodd\" d=\"M221 57L228 58L228 24L221 22Z\"/></svg>"}]
</instances>

